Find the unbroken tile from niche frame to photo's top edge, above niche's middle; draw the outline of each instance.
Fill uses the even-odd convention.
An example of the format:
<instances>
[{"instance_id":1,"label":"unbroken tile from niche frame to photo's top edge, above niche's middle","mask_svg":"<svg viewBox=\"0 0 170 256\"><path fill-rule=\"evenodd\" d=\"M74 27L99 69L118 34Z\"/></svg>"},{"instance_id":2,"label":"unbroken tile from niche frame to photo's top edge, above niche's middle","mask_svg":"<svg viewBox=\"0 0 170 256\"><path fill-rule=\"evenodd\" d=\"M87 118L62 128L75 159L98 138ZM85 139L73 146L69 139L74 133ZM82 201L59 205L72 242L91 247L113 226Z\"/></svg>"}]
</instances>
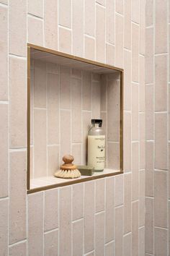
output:
<instances>
[{"instance_id":1,"label":"unbroken tile from niche frame to photo's top edge, above niche's middle","mask_svg":"<svg viewBox=\"0 0 170 256\"><path fill-rule=\"evenodd\" d=\"M72 1L73 54L84 55L84 1Z\"/></svg>"}]
</instances>

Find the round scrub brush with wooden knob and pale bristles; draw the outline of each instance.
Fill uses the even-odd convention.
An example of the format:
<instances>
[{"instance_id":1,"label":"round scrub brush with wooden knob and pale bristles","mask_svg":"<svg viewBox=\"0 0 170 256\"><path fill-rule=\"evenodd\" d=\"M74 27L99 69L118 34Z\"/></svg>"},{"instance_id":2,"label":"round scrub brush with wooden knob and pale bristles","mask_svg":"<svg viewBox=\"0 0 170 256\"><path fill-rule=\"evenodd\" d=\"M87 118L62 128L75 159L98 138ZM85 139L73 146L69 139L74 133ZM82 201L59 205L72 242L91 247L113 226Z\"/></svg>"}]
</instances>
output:
<instances>
[{"instance_id":1,"label":"round scrub brush with wooden knob and pale bristles","mask_svg":"<svg viewBox=\"0 0 170 256\"><path fill-rule=\"evenodd\" d=\"M70 179L70 178L79 178L81 173L77 169L73 162L73 155L64 155L63 162L64 164L61 166L61 170L56 171L54 176L58 178Z\"/></svg>"}]
</instances>

